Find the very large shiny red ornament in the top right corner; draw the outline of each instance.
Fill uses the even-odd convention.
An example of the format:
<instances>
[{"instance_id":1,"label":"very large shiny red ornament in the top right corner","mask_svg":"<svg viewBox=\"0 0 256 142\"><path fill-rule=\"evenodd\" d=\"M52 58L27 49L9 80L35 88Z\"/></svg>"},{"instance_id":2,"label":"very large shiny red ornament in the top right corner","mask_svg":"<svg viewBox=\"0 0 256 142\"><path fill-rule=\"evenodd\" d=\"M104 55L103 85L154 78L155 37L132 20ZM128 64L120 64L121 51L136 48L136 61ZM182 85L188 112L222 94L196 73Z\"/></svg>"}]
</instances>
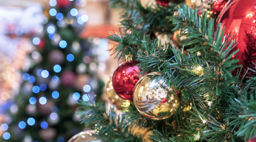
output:
<instances>
[{"instance_id":1,"label":"very large shiny red ornament in the top right corner","mask_svg":"<svg viewBox=\"0 0 256 142\"><path fill-rule=\"evenodd\" d=\"M215 27L218 23L225 26L224 35L234 35L238 43L234 50L239 49L234 58L239 59L243 72L248 67L255 67L253 62L256 61L256 0L228 1L220 12Z\"/></svg>"}]
</instances>

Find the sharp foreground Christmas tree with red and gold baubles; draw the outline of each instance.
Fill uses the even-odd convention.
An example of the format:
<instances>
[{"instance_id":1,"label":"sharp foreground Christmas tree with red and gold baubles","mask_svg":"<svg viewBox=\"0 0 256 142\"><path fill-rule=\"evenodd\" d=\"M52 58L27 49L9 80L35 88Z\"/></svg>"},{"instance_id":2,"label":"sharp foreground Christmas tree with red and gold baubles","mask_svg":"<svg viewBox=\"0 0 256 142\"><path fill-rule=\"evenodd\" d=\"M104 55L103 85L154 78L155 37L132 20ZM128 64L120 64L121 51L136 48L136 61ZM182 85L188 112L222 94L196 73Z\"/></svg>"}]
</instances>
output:
<instances>
[{"instance_id":1,"label":"sharp foreground Christmas tree with red and gold baubles","mask_svg":"<svg viewBox=\"0 0 256 142\"><path fill-rule=\"evenodd\" d=\"M256 141L256 0L110 4L122 9L122 27L108 39L117 58L127 60L107 83L108 102L80 101L81 122L95 130L90 136L102 142ZM86 141L88 133L70 142Z\"/></svg>"}]
</instances>

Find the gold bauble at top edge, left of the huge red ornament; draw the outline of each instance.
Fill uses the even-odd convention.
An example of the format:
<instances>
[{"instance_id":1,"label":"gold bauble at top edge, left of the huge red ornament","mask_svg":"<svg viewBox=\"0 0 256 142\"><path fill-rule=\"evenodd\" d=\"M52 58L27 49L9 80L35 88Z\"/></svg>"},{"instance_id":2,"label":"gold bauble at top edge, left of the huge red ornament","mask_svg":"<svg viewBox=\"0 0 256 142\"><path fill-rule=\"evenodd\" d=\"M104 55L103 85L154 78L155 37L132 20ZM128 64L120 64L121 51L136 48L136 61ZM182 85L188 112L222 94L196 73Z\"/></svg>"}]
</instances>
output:
<instances>
[{"instance_id":1,"label":"gold bauble at top edge, left of the huge red ornament","mask_svg":"<svg viewBox=\"0 0 256 142\"><path fill-rule=\"evenodd\" d=\"M213 0L185 0L185 4L192 9L197 7L198 12L203 14L204 11L210 8L210 2Z\"/></svg>"}]
</instances>

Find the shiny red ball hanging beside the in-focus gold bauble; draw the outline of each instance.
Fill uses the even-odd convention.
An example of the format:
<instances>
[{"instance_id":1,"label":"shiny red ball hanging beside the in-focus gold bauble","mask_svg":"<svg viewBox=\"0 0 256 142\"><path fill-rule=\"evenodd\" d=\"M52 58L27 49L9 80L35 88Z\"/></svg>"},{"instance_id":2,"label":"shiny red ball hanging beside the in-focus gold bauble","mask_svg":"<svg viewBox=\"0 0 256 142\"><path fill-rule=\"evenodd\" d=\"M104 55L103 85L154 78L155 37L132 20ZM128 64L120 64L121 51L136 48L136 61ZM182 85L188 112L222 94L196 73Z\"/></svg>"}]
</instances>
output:
<instances>
[{"instance_id":1,"label":"shiny red ball hanging beside the in-focus gold bauble","mask_svg":"<svg viewBox=\"0 0 256 142\"><path fill-rule=\"evenodd\" d=\"M133 100L133 90L139 78L138 61L123 62L113 73L112 84L114 91L125 100Z\"/></svg>"}]
</instances>

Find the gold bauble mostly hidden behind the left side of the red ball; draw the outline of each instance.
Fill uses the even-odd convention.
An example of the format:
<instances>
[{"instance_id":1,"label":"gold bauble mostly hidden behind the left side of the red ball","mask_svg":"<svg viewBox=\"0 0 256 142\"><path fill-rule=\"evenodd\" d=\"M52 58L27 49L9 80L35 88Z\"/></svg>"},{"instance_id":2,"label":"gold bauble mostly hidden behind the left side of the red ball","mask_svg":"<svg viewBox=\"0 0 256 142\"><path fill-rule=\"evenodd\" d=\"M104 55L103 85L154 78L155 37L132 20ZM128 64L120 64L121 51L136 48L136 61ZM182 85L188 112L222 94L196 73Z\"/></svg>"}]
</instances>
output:
<instances>
[{"instance_id":1,"label":"gold bauble mostly hidden behind the left side of the red ball","mask_svg":"<svg viewBox=\"0 0 256 142\"><path fill-rule=\"evenodd\" d=\"M110 76L110 80L107 82L106 84L106 93L107 93L107 97L108 100L110 101L111 104L116 105L117 109L121 110L122 107L121 105L123 105L123 99L121 99L115 92L113 89L113 85L112 85L112 76Z\"/></svg>"}]
</instances>

